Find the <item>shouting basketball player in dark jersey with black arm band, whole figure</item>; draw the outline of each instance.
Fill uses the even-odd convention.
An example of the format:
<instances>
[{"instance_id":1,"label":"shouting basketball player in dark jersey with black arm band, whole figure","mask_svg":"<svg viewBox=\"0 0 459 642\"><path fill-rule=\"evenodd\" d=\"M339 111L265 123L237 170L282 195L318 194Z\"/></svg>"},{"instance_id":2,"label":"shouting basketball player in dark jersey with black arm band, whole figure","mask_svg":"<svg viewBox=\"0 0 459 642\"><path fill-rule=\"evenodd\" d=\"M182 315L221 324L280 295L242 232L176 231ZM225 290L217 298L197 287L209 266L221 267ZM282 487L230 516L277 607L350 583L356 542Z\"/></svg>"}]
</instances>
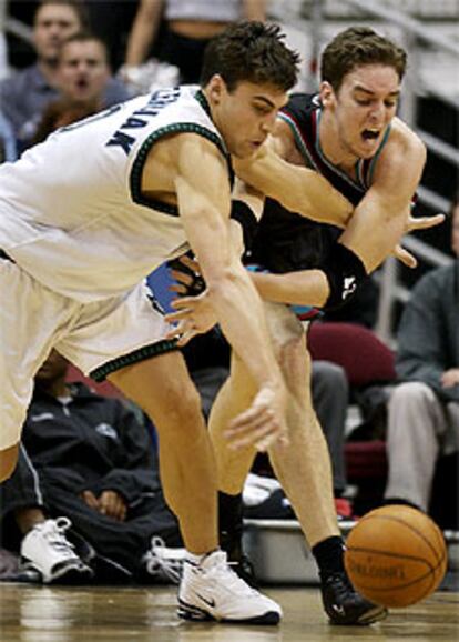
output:
<instances>
[{"instance_id":1,"label":"shouting basketball player in dark jersey with black arm band, whole figure","mask_svg":"<svg viewBox=\"0 0 459 642\"><path fill-rule=\"evenodd\" d=\"M293 97L282 110L272 142L289 163L314 167L323 173L353 202L354 215L339 242L317 258L317 245L326 247L317 228L312 233L312 222L295 214L293 208L288 212L267 201L253 248L255 260L275 272L255 273L253 278L263 298L272 302L266 305L267 320L289 390L288 444L269 444L263 425L258 443L268 438L273 468L313 549L324 606L335 624L368 624L380 620L385 610L364 600L346 576L329 457L312 405L305 331L295 312L282 303L337 305L347 299L347 290L356 289L392 252L404 232L443 220L441 215L410 217L426 152L418 137L395 118L405 63L405 52L370 29L351 28L330 42L323 57L319 94ZM236 171L242 164L246 164L244 160L235 162ZM262 159L238 173L255 182L253 172L263 174L264 170ZM294 192L293 183L284 185ZM317 214L323 202L317 201ZM336 224L341 227L339 221ZM299 238L303 244L297 242ZM397 253L410 261L400 248ZM307 268L316 269L305 271ZM200 323L203 330L212 325L205 294L195 301L185 298L176 307L180 311L170 319L180 321L177 332L185 340ZM226 427L251 403L254 392L252 375L239 355L233 354L231 378L217 397L210 424L222 520L226 530L236 526L238 533L237 502L255 449L252 431L244 425ZM235 515L233 526L228 514Z\"/></svg>"}]
</instances>

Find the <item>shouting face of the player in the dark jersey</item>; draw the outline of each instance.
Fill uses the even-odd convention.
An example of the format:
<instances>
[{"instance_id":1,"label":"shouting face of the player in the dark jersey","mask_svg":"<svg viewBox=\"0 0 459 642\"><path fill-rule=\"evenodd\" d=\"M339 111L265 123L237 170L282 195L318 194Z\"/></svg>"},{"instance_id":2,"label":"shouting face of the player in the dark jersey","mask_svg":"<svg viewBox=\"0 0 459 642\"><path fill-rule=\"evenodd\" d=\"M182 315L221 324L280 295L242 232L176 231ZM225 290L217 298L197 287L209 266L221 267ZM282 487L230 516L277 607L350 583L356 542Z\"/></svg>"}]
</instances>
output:
<instances>
[{"instance_id":1,"label":"shouting face of the player in the dark jersey","mask_svg":"<svg viewBox=\"0 0 459 642\"><path fill-rule=\"evenodd\" d=\"M337 92L329 89L336 144L356 158L375 156L396 114L400 79L392 67L366 64L348 73Z\"/></svg>"}]
</instances>

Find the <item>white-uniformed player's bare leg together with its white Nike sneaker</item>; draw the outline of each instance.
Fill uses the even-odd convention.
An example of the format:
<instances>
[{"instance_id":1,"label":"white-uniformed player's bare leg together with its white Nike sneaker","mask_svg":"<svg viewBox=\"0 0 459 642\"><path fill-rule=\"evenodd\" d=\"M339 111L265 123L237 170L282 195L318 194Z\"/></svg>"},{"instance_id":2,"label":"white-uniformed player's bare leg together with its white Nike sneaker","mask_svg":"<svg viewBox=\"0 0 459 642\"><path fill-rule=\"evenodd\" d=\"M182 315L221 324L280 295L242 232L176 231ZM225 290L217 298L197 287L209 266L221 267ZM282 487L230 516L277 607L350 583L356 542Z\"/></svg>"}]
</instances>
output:
<instances>
[{"instance_id":1,"label":"white-uniformed player's bare leg together with its white Nike sneaker","mask_svg":"<svg viewBox=\"0 0 459 642\"><path fill-rule=\"evenodd\" d=\"M142 361L110 378L153 420L164 496L188 551L178 590L178 615L277 624L282 610L251 589L217 550L216 469L201 399L180 352Z\"/></svg>"}]
</instances>

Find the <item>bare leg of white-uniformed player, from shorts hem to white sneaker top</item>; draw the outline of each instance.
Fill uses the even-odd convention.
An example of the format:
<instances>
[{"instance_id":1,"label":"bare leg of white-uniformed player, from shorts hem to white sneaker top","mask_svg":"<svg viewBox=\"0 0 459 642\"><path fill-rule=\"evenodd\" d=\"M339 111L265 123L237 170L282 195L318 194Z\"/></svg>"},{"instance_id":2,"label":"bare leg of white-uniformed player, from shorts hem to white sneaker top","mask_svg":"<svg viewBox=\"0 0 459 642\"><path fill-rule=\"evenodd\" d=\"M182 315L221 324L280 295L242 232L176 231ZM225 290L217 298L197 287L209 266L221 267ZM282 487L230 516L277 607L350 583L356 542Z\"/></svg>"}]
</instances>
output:
<instances>
[{"instance_id":1,"label":"bare leg of white-uniformed player, from shorts hem to white sneaker top","mask_svg":"<svg viewBox=\"0 0 459 642\"><path fill-rule=\"evenodd\" d=\"M195 554L215 550L215 461L201 400L182 355L154 357L123 368L110 379L154 422L164 496L177 515L186 549Z\"/></svg>"}]
</instances>

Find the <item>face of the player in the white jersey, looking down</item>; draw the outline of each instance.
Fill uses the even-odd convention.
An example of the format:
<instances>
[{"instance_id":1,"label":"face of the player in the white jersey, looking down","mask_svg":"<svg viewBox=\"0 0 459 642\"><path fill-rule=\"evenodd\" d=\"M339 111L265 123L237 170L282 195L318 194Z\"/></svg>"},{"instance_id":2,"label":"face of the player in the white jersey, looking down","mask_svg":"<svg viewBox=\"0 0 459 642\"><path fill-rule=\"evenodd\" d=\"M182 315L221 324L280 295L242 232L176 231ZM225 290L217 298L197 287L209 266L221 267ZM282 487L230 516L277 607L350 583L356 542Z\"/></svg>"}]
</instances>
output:
<instances>
[{"instance_id":1,"label":"face of the player in the white jersey, looking down","mask_svg":"<svg viewBox=\"0 0 459 642\"><path fill-rule=\"evenodd\" d=\"M269 84L239 82L232 92L220 77L207 88L214 122L228 151L237 158L254 154L273 131L287 94Z\"/></svg>"}]
</instances>

